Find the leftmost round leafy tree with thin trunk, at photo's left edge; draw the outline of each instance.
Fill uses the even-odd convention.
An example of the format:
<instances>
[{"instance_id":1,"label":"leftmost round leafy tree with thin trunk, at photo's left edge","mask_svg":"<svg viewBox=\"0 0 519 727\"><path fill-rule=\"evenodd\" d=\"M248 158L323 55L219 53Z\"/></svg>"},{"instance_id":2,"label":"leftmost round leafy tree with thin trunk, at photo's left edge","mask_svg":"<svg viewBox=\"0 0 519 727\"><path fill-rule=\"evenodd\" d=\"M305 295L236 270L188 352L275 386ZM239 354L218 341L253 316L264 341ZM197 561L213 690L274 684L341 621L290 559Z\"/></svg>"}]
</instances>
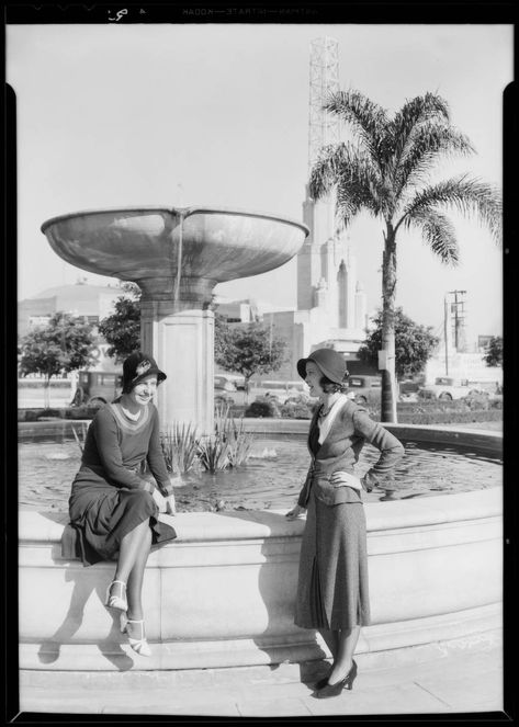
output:
<instances>
[{"instance_id":1,"label":"leftmost round leafy tree with thin trunk, at photo's left edge","mask_svg":"<svg viewBox=\"0 0 519 727\"><path fill-rule=\"evenodd\" d=\"M44 401L49 406L50 378L93 363L95 348L92 326L81 318L55 314L47 326L37 327L20 344L20 374L44 374Z\"/></svg>"}]
</instances>

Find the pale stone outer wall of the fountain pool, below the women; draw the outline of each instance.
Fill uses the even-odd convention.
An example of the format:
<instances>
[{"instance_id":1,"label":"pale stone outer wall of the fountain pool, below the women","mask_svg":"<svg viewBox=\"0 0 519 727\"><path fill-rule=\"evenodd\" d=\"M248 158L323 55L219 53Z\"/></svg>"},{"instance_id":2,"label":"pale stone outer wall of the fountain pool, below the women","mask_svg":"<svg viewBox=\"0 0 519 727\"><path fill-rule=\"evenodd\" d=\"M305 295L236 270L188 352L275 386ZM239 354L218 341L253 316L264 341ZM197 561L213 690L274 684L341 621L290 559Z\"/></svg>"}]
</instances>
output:
<instances>
[{"instance_id":1,"label":"pale stone outer wall of the fountain pool, below the women","mask_svg":"<svg viewBox=\"0 0 519 727\"><path fill-rule=\"evenodd\" d=\"M477 644L500 628L501 488L366 503L365 512L372 625L360 656L441 654L445 641ZM114 564L64 560L64 524L50 518L20 512L21 669L229 668L327 654L293 622L303 520L277 511L171 519L179 538L154 548L145 573L145 659L103 606Z\"/></svg>"}]
</instances>

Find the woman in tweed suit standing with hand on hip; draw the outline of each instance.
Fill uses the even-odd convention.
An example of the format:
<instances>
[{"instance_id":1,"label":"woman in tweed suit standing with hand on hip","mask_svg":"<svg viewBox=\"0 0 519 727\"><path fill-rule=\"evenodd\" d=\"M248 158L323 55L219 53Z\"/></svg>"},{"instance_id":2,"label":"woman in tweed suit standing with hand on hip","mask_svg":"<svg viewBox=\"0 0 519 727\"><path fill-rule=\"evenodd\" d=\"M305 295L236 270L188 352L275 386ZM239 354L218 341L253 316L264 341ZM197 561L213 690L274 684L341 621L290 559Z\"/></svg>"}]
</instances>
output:
<instances>
[{"instance_id":1,"label":"woman in tweed suit standing with hand on hip","mask_svg":"<svg viewBox=\"0 0 519 727\"><path fill-rule=\"evenodd\" d=\"M295 624L317 628L334 662L317 682L319 698L352 689L353 660L360 629L370 623L368 550L362 487L370 491L404 454L398 440L346 395L343 356L318 349L297 362L297 372L320 407L312 419L308 448L312 464L289 520L307 509L300 557ZM359 479L353 474L364 442L381 452Z\"/></svg>"}]
</instances>

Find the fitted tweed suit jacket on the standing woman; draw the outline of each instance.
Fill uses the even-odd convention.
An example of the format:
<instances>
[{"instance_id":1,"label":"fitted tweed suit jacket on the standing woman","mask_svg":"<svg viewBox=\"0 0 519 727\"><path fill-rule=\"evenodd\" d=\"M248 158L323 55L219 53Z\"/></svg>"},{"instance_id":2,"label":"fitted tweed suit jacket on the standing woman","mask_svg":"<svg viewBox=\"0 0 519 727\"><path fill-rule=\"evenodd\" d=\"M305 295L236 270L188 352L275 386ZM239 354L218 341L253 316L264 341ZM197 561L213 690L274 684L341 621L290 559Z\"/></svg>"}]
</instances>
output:
<instances>
[{"instance_id":1,"label":"fitted tweed suit jacket on the standing woman","mask_svg":"<svg viewBox=\"0 0 519 727\"><path fill-rule=\"evenodd\" d=\"M312 419L311 431L317 425L317 418L318 409ZM308 446L312 464L297 504L306 507L311 486L314 488L315 497L325 504L359 502L361 500L359 491L345 485L335 486L330 478L336 472L353 474L354 464L359 459L364 442L370 442L381 451L377 462L364 475L365 482L374 484L393 470L404 454L404 447L396 436L370 419L365 409L347 399L334 419L317 456L313 455Z\"/></svg>"}]
</instances>

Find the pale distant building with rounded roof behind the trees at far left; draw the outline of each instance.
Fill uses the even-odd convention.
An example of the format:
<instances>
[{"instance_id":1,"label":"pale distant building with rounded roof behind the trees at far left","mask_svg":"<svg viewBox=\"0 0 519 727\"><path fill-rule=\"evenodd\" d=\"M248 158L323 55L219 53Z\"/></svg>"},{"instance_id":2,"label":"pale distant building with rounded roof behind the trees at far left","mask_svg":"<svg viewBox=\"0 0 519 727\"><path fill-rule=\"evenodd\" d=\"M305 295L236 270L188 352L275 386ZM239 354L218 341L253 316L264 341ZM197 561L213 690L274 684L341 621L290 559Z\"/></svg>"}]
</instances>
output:
<instances>
[{"instance_id":1,"label":"pale distant building with rounded roof behind the trees at far left","mask_svg":"<svg viewBox=\"0 0 519 727\"><path fill-rule=\"evenodd\" d=\"M82 317L97 325L113 313L115 300L122 295L119 287L110 285L59 285L21 300L18 306L18 334L25 336L35 326L45 326L56 313Z\"/></svg>"}]
</instances>

